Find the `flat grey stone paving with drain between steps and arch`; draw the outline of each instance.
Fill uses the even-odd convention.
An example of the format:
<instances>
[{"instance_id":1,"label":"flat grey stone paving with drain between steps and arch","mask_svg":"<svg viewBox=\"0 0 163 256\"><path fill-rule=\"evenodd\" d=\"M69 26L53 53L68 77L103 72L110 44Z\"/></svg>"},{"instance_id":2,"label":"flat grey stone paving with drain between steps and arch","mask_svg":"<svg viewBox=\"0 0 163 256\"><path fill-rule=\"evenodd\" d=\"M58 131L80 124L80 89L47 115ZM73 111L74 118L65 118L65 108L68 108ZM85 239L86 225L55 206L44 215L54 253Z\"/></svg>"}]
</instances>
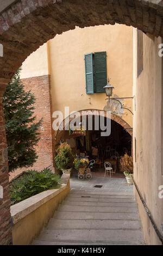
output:
<instances>
[{"instance_id":1,"label":"flat grey stone paving with drain between steps and arch","mask_svg":"<svg viewBox=\"0 0 163 256\"><path fill-rule=\"evenodd\" d=\"M97 188L96 185L102 185L102 187ZM128 184L126 179L93 177L91 180L78 180L77 176L73 176L70 179L70 187L72 191L131 192L133 194L133 185Z\"/></svg>"}]
</instances>

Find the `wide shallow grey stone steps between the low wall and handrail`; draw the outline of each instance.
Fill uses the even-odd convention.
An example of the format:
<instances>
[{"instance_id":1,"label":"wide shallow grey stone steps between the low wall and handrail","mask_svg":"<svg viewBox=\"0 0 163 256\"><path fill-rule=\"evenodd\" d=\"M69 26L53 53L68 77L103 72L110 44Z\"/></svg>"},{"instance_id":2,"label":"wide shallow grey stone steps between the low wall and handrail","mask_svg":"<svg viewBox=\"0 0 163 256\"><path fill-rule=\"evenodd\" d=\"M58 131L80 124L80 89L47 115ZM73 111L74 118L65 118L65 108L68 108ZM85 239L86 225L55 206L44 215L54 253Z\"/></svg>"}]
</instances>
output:
<instances>
[{"instance_id":1,"label":"wide shallow grey stone steps between the low wall and handrail","mask_svg":"<svg viewBox=\"0 0 163 256\"><path fill-rule=\"evenodd\" d=\"M33 245L143 245L130 193L71 191Z\"/></svg>"}]
</instances>

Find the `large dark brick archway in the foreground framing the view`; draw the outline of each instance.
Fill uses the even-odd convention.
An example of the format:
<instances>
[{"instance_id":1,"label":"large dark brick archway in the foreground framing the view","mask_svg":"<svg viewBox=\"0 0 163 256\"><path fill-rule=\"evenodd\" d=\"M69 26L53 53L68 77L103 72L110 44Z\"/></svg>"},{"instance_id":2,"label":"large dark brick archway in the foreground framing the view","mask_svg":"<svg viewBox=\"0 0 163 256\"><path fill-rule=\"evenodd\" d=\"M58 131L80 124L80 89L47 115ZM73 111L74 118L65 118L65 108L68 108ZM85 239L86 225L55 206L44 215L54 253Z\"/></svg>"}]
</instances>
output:
<instances>
[{"instance_id":1,"label":"large dark brick archway in the foreground framing the view","mask_svg":"<svg viewBox=\"0 0 163 256\"><path fill-rule=\"evenodd\" d=\"M10 0L0 8L0 244L12 241L8 154L2 97L14 72L43 43L56 34L74 29L116 23L163 36L163 1L161 0ZM1 47L2 48L2 47Z\"/></svg>"}]
</instances>

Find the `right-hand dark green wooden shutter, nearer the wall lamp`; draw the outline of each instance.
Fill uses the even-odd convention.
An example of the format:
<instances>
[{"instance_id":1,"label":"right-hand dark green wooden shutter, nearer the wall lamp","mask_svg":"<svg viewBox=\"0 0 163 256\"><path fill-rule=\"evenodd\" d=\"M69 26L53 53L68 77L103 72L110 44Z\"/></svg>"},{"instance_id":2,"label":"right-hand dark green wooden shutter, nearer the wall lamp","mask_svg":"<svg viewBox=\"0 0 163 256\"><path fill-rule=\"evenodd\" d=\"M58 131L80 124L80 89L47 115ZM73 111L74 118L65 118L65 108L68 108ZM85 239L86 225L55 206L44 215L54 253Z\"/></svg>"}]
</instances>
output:
<instances>
[{"instance_id":1,"label":"right-hand dark green wooden shutter, nearer the wall lamp","mask_svg":"<svg viewBox=\"0 0 163 256\"><path fill-rule=\"evenodd\" d=\"M107 84L106 52L95 52L95 92L105 93Z\"/></svg>"}]
</instances>

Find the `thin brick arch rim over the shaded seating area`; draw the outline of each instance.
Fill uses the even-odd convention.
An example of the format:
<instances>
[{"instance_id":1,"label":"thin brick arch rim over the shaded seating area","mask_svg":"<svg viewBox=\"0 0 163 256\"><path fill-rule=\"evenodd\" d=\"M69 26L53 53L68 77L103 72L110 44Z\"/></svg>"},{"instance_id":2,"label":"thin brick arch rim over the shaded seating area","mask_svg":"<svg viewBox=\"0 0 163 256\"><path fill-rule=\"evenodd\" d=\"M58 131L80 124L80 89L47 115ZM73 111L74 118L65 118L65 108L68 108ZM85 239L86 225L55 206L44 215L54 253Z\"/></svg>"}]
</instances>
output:
<instances>
[{"instance_id":1,"label":"thin brick arch rim over the shaded seating area","mask_svg":"<svg viewBox=\"0 0 163 256\"><path fill-rule=\"evenodd\" d=\"M83 110L78 111L78 113L80 114L81 117L82 117L82 111L86 111L89 115L95 115L95 112L96 112L96 114L101 115L99 109L83 109ZM102 112L104 113L104 117L106 117L106 111L102 111ZM57 135L55 136L55 143L56 144L59 143L60 138L62 137L62 134L64 132L65 126L68 123L70 123L70 121L73 120L73 119L74 118L64 119L64 121L63 121L63 130L58 130ZM133 136L133 128L125 120L123 120L121 117L118 117L118 115L116 115L114 113L111 113L110 119L115 121L117 124L120 124L124 128L124 130L126 130L129 133L129 135L131 135L131 137Z\"/></svg>"}]
</instances>

